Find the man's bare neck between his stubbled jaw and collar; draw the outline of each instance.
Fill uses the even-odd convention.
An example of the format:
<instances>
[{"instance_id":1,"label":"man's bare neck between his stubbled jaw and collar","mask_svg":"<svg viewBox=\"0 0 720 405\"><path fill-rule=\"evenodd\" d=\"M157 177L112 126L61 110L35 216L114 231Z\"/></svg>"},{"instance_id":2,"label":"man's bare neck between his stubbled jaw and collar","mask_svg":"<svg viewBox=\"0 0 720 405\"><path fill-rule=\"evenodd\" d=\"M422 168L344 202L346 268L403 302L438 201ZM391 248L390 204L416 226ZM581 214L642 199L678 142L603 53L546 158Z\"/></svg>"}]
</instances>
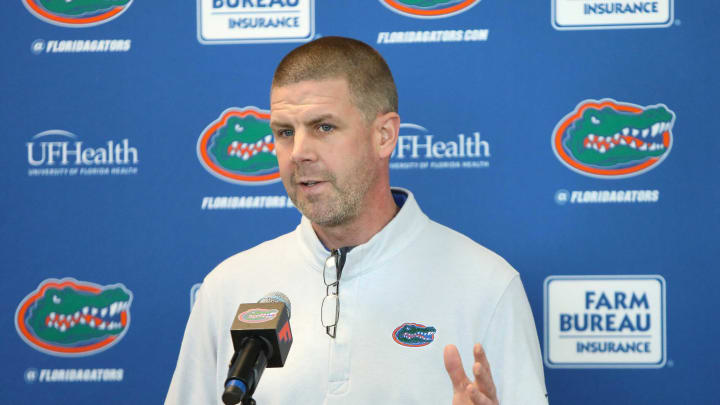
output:
<instances>
[{"instance_id":1,"label":"man's bare neck between his stubbled jaw and collar","mask_svg":"<svg viewBox=\"0 0 720 405\"><path fill-rule=\"evenodd\" d=\"M374 201L368 201L363 212L352 221L337 226L322 226L313 223L320 241L328 249L338 249L346 246L357 246L369 241L380 232L399 211L395 199L388 187L386 193Z\"/></svg>"}]
</instances>

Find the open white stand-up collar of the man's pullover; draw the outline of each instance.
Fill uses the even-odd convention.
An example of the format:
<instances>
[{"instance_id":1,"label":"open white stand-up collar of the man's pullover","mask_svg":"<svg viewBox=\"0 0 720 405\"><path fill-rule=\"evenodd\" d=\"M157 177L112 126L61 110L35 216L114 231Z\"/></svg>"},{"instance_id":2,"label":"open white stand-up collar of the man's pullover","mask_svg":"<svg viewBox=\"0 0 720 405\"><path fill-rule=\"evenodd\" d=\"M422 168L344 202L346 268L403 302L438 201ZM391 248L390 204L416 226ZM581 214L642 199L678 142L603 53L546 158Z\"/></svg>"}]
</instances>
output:
<instances>
[{"instance_id":1,"label":"open white stand-up collar of the man's pullover","mask_svg":"<svg viewBox=\"0 0 720 405\"><path fill-rule=\"evenodd\" d=\"M393 195L406 196L397 215L369 241L355 246L347 254L343 280L348 280L379 267L409 245L430 219L420 210L413 194L406 189L392 188ZM396 201L398 198L395 197ZM305 260L313 270L322 272L323 263L330 252L323 246L305 216L296 229L297 240Z\"/></svg>"}]
</instances>

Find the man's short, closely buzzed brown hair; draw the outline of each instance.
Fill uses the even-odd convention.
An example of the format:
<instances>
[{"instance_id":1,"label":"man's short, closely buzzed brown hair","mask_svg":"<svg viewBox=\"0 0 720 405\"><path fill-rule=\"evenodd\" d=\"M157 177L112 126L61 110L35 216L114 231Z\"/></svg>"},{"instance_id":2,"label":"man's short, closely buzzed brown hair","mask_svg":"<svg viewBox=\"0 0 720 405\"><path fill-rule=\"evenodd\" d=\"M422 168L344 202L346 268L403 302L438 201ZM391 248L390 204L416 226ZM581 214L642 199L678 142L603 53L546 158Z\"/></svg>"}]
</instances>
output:
<instances>
[{"instance_id":1,"label":"man's short, closely buzzed brown hair","mask_svg":"<svg viewBox=\"0 0 720 405\"><path fill-rule=\"evenodd\" d=\"M293 49L275 69L272 87L334 78L347 80L351 102L368 122L398 111L387 63L370 45L352 38L321 37Z\"/></svg>"}]
</instances>

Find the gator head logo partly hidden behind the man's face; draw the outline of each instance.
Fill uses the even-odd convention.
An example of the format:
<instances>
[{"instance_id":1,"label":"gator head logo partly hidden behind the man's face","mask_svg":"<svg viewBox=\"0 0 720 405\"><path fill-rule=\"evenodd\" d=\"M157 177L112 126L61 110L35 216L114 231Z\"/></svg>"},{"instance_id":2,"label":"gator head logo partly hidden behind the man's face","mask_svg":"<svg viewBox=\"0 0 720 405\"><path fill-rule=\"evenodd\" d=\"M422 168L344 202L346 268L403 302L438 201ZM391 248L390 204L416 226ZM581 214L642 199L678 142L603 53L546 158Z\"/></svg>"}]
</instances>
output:
<instances>
[{"instance_id":1,"label":"gator head logo partly hidden behind the man's face","mask_svg":"<svg viewBox=\"0 0 720 405\"><path fill-rule=\"evenodd\" d=\"M237 184L280 180L270 113L256 107L225 110L200 135L197 155L213 176Z\"/></svg>"}]
</instances>

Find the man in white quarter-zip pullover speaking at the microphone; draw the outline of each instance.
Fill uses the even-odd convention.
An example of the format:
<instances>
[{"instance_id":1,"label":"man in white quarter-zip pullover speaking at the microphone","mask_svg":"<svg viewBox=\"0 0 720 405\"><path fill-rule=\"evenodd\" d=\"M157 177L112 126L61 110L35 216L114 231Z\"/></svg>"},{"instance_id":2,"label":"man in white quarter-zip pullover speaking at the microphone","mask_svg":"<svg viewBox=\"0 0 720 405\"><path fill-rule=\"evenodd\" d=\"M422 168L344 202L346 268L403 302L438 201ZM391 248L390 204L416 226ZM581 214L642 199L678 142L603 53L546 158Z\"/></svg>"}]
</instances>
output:
<instances>
[{"instance_id":1,"label":"man in white quarter-zip pullover speaking at the microphone","mask_svg":"<svg viewBox=\"0 0 720 405\"><path fill-rule=\"evenodd\" d=\"M235 309L273 290L292 303L294 343L263 374L261 405L547 403L517 272L390 188L400 117L382 57L347 38L305 44L280 62L270 105L303 218L205 278L166 404L221 403Z\"/></svg>"}]
</instances>

